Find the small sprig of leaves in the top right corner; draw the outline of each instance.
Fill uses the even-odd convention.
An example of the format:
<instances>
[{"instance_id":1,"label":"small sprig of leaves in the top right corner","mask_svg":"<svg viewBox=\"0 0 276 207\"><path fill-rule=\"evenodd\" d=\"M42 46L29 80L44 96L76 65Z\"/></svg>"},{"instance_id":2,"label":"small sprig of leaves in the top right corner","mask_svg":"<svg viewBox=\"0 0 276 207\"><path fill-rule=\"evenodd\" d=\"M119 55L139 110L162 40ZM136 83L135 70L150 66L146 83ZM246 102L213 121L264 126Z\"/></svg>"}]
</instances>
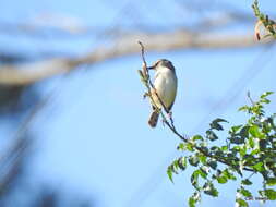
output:
<instances>
[{"instance_id":1,"label":"small sprig of leaves in the top right corner","mask_svg":"<svg viewBox=\"0 0 276 207\"><path fill-rule=\"evenodd\" d=\"M254 10L255 16L259 19L259 21L264 25L264 27L268 32L268 34L265 35L264 37L272 36L272 37L276 38L276 23L275 23L275 21L271 20L268 17L268 15L266 15L260 11L257 0L254 1L254 3L252 4L252 8ZM256 34L256 35L257 35L257 38L260 39L259 34Z\"/></svg>"}]
</instances>

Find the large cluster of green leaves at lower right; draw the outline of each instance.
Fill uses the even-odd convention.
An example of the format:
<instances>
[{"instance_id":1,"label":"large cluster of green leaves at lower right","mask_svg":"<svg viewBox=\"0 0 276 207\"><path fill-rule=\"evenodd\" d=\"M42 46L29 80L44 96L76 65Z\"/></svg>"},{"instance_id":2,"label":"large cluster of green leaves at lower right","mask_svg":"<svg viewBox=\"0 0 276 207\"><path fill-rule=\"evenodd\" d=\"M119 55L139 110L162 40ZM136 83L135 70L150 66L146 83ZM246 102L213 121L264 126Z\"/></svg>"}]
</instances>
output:
<instances>
[{"instance_id":1,"label":"large cluster of green leaves at lower right","mask_svg":"<svg viewBox=\"0 0 276 207\"><path fill-rule=\"evenodd\" d=\"M256 102L251 100L251 106L239 109L248 113L249 119L244 124L231 126L224 142L218 141L218 132L226 132L224 125L228 121L216 119L204 136L195 135L179 144L178 150L183 151L184 156L176 159L168 167L167 173L173 181L173 174L185 170L188 166L193 167L191 184L195 192L189 198L190 207L195 207L202 194L217 197L217 183L226 184L236 180L240 181L236 204L247 207L247 200L252 197L247 187L257 174L263 179L260 196L276 199L276 191L272 188L276 185L276 113L266 115L264 110L264 106L269 104L267 96L271 94L264 93Z\"/></svg>"}]
</instances>

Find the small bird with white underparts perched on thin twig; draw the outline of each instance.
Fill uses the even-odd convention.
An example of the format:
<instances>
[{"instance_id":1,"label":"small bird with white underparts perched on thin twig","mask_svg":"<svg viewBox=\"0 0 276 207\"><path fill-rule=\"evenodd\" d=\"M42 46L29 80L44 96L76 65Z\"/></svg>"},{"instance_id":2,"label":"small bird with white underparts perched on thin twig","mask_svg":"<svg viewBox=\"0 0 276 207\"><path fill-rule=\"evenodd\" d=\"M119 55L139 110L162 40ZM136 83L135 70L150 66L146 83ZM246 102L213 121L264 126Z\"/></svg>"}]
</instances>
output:
<instances>
[{"instance_id":1,"label":"small bird with white underparts perched on thin twig","mask_svg":"<svg viewBox=\"0 0 276 207\"><path fill-rule=\"evenodd\" d=\"M149 66L148 69L155 70L154 87L163 104L170 111L176 99L178 86L175 66L169 60L160 59L157 60L153 66ZM152 92L152 95L156 106L161 109L163 106L159 102L158 97L154 92ZM154 111L149 117L148 124L152 127L155 127L158 121L159 112L155 109L154 105L153 109Z\"/></svg>"}]
</instances>

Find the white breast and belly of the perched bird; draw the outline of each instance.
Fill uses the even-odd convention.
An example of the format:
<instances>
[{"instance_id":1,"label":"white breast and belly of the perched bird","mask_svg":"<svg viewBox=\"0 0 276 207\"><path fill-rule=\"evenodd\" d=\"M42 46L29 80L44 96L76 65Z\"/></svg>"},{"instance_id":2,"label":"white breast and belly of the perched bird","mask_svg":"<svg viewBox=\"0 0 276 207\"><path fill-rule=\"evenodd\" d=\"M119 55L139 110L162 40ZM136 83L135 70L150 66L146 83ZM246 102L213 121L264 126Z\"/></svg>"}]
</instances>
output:
<instances>
[{"instance_id":1,"label":"white breast and belly of the perched bird","mask_svg":"<svg viewBox=\"0 0 276 207\"><path fill-rule=\"evenodd\" d=\"M154 86L164 105L167 108L171 107L177 94L177 76L175 72L165 66L158 68L156 70ZM161 107L157 98L155 98L155 102L158 107Z\"/></svg>"}]
</instances>

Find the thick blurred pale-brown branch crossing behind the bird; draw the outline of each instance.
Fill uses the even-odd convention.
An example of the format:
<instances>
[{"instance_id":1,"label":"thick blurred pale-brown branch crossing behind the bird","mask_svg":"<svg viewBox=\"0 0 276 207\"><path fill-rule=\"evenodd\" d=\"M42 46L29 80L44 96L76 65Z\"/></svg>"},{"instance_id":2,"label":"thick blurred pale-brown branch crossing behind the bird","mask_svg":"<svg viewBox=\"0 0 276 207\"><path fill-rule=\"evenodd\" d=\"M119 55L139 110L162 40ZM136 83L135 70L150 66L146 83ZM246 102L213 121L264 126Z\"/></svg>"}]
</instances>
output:
<instances>
[{"instance_id":1,"label":"thick blurred pale-brown branch crossing behind the bird","mask_svg":"<svg viewBox=\"0 0 276 207\"><path fill-rule=\"evenodd\" d=\"M106 48L100 47L93 52L88 52L87 54L75 59L59 58L40 62L32 62L28 64L3 65L0 68L0 84L27 85L58 74L68 73L81 64L94 64L113 58L139 53L140 49L135 45L137 39L141 39L143 42L147 42L148 51L159 52L191 48L244 48L256 45L252 34L237 36L194 34L185 31L164 34L136 34L122 37L115 46ZM272 41L272 39L267 39L264 42L269 41Z\"/></svg>"}]
</instances>

